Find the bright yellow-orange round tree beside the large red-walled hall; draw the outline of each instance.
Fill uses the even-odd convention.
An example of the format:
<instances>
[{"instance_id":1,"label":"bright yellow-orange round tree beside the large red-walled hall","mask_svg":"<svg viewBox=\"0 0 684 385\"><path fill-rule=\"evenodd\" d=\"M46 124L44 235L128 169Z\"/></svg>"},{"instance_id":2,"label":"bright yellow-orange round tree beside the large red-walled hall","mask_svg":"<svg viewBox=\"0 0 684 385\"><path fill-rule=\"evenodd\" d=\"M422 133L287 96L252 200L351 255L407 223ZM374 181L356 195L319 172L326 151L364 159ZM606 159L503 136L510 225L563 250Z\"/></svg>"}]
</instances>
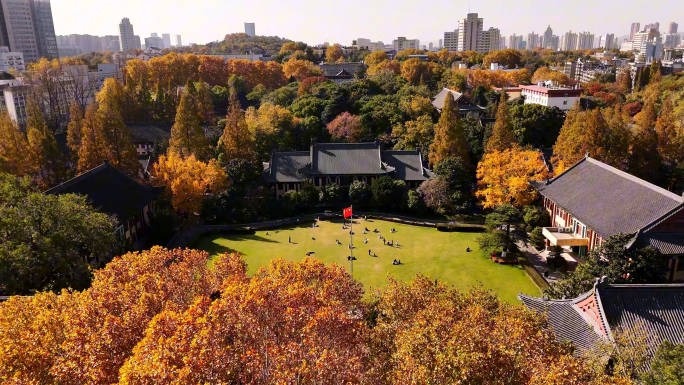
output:
<instances>
[{"instance_id":1,"label":"bright yellow-orange round tree beside the large red-walled hall","mask_svg":"<svg viewBox=\"0 0 684 385\"><path fill-rule=\"evenodd\" d=\"M537 151L519 147L491 151L477 165L478 190L475 196L484 208L502 204L522 207L537 197L529 181L544 180L549 176L542 155Z\"/></svg>"}]
</instances>

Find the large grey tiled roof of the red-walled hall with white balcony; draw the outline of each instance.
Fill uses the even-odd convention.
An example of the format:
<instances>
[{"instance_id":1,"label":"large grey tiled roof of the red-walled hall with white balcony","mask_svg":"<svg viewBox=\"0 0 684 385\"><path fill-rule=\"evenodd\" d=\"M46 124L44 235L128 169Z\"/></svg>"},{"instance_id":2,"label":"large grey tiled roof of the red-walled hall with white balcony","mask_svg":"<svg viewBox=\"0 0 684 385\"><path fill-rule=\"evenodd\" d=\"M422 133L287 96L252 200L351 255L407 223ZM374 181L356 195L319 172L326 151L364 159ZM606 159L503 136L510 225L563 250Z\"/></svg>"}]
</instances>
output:
<instances>
[{"instance_id":1,"label":"large grey tiled roof of the red-walled hall with white balcony","mask_svg":"<svg viewBox=\"0 0 684 385\"><path fill-rule=\"evenodd\" d=\"M684 198L592 158L548 183L543 196L604 238L634 234L684 203Z\"/></svg>"}]
</instances>

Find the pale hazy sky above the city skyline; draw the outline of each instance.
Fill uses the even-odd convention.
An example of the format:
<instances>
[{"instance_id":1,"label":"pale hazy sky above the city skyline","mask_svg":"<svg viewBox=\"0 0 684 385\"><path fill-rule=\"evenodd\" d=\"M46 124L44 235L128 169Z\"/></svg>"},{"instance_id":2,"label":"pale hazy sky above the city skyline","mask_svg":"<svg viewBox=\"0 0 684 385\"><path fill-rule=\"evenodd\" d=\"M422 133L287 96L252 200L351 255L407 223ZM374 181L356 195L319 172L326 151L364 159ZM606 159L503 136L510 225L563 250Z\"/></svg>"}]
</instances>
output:
<instances>
[{"instance_id":1,"label":"pale hazy sky above the city skyline","mask_svg":"<svg viewBox=\"0 0 684 385\"><path fill-rule=\"evenodd\" d=\"M128 17L142 39L152 32L180 34L184 44L221 40L256 23L257 35L280 36L316 45L351 45L362 37L391 44L404 36L421 44L437 41L458 27L468 11L484 18L484 28L499 28L501 36L554 34L569 30L598 36L629 34L632 22L670 22L684 32L680 0L592 0L575 4L549 0L52 0L57 35L118 35Z\"/></svg>"}]
</instances>

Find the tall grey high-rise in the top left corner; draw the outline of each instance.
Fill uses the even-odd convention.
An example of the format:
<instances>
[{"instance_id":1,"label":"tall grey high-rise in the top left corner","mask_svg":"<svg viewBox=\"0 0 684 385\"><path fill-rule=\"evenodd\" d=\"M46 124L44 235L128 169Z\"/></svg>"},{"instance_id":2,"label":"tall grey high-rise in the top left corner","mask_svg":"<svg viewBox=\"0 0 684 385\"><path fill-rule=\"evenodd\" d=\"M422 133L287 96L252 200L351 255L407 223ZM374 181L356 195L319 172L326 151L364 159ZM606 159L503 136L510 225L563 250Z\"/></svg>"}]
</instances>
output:
<instances>
[{"instance_id":1,"label":"tall grey high-rise in the top left corner","mask_svg":"<svg viewBox=\"0 0 684 385\"><path fill-rule=\"evenodd\" d=\"M0 46L23 53L27 62L57 58L50 0L1 1Z\"/></svg>"}]
</instances>

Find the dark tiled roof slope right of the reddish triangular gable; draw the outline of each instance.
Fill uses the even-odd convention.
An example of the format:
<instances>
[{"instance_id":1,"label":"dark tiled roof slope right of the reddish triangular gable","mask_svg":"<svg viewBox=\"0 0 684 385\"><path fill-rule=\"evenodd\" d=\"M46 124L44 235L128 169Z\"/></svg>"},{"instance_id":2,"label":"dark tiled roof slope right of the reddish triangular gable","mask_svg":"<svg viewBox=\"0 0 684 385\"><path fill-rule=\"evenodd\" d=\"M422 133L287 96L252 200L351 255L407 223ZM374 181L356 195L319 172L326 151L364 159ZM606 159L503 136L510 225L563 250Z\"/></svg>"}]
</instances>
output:
<instances>
[{"instance_id":1,"label":"dark tiled roof slope right of the reddish triangular gable","mask_svg":"<svg viewBox=\"0 0 684 385\"><path fill-rule=\"evenodd\" d=\"M613 332L646 329L651 357L665 340L684 343L684 285L609 285L597 291Z\"/></svg>"}]
</instances>

